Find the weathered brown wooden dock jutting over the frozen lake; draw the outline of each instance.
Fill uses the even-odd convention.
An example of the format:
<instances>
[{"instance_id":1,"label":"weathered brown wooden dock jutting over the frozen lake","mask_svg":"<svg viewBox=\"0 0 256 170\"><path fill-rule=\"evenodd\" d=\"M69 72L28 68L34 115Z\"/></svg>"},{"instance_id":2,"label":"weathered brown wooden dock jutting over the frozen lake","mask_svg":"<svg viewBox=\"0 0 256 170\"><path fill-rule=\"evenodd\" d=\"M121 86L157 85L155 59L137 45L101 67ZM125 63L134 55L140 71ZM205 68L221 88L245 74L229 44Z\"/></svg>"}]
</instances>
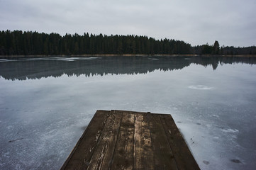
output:
<instances>
[{"instance_id":1,"label":"weathered brown wooden dock jutting over the frozen lake","mask_svg":"<svg viewBox=\"0 0 256 170\"><path fill-rule=\"evenodd\" d=\"M61 169L199 169L171 115L96 111Z\"/></svg>"}]
</instances>

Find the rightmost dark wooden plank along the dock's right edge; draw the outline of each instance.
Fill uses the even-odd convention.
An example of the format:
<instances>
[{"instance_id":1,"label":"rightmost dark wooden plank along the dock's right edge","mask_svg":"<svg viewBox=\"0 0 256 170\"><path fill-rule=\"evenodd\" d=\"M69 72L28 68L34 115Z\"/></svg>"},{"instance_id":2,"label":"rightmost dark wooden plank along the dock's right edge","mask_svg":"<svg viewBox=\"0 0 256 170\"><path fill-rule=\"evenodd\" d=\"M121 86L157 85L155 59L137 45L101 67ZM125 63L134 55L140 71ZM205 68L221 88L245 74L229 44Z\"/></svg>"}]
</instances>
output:
<instances>
[{"instance_id":1,"label":"rightmost dark wooden plank along the dock's right edge","mask_svg":"<svg viewBox=\"0 0 256 170\"><path fill-rule=\"evenodd\" d=\"M160 115L160 118L179 169L199 169L189 147L187 147L186 142L174 123L172 115Z\"/></svg>"}]
</instances>

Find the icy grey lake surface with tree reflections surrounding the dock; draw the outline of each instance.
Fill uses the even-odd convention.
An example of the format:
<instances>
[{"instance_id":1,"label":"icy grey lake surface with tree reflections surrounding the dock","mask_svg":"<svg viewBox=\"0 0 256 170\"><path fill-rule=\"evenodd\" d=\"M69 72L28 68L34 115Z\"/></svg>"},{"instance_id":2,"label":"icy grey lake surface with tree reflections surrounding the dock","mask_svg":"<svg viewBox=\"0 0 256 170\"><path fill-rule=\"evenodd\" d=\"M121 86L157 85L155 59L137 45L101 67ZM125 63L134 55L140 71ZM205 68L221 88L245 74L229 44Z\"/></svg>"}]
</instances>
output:
<instances>
[{"instance_id":1,"label":"icy grey lake surface with tree reflections surrounding the dock","mask_svg":"<svg viewBox=\"0 0 256 170\"><path fill-rule=\"evenodd\" d=\"M201 169L256 168L256 59L0 60L0 169L60 169L96 110L172 114Z\"/></svg>"}]
</instances>

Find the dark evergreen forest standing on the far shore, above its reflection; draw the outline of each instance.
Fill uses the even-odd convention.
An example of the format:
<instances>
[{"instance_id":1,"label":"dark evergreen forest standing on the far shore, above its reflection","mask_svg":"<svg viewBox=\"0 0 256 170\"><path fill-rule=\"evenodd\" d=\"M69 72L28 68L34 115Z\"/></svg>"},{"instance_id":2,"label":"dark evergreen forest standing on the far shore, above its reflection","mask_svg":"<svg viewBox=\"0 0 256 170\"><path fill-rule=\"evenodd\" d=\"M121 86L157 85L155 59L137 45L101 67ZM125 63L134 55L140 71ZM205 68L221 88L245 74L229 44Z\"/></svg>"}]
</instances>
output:
<instances>
[{"instance_id":1,"label":"dark evergreen forest standing on the far shore, above its reflection","mask_svg":"<svg viewBox=\"0 0 256 170\"><path fill-rule=\"evenodd\" d=\"M256 55L255 47L192 47L180 40L155 40L138 35L84 35L6 30L0 32L0 55Z\"/></svg>"}]
</instances>

